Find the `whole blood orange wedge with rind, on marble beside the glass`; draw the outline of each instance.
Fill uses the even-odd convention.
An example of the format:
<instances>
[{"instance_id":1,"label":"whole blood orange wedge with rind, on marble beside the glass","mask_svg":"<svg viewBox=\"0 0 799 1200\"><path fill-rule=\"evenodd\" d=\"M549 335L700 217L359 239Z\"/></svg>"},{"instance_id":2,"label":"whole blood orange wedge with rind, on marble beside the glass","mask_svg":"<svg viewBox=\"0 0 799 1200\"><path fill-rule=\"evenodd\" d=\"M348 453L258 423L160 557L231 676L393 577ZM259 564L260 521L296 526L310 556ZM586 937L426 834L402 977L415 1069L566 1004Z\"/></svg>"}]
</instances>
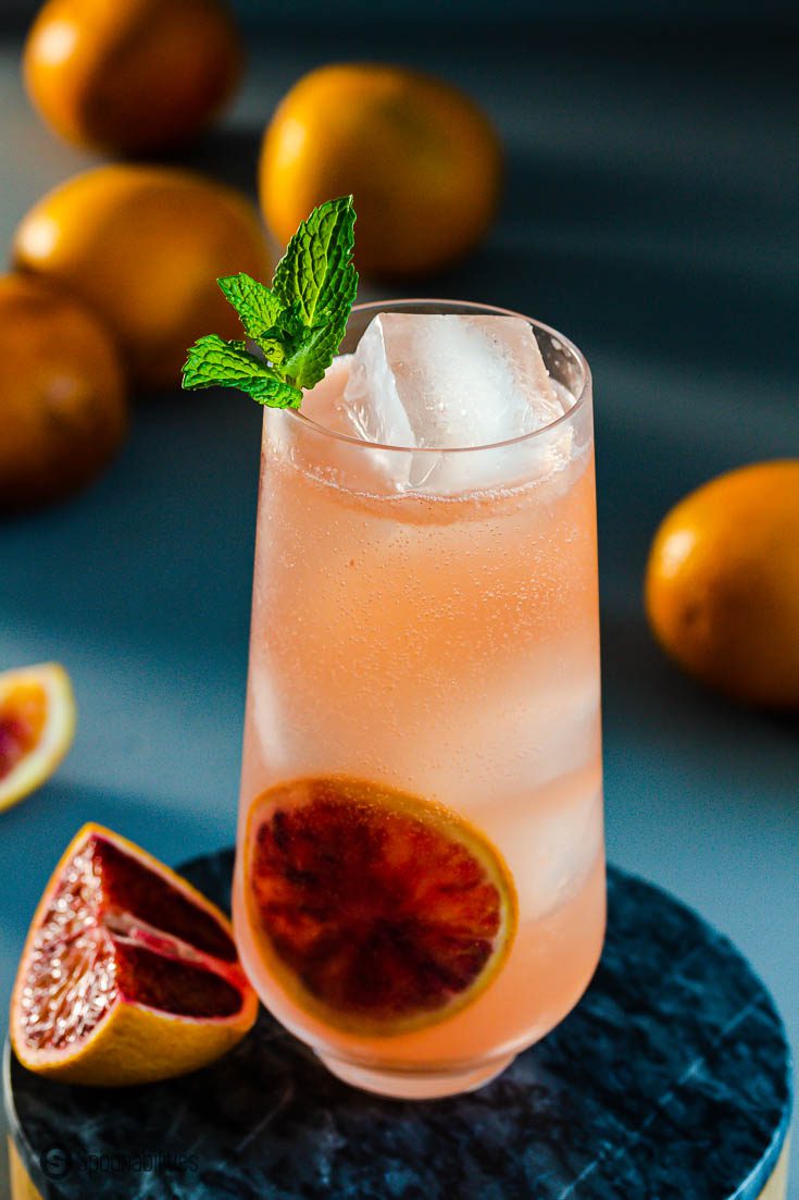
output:
<instances>
[{"instance_id":1,"label":"whole blood orange wedge with rind, on marble beside the glass","mask_svg":"<svg viewBox=\"0 0 799 1200\"><path fill-rule=\"evenodd\" d=\"M138 846L84 826L23 950L19 1061L72 1084L168 1079L235 1045L257 1008L220 910Z\"/></svg>"}]
</instances>

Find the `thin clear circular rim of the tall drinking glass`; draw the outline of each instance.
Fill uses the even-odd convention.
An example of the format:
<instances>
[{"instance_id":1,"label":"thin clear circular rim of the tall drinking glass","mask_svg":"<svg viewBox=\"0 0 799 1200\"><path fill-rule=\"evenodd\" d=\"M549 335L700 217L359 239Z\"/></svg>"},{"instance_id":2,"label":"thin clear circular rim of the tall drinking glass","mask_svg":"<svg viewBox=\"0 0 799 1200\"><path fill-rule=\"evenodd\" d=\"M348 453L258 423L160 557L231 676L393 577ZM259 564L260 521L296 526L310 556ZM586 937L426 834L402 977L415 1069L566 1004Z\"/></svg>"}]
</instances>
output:
<instances>
[{"instance_id":1,"label":"thin clear circular rim of the tall drinking glass","mask_svg":"<svg viewBox=\"0 0 799 1200\"><path fill-rule=\"evenodd\" d=\"M402 306L416 305L423 306L438 306L447 308L465 308L474 310L479 308L481 312L488 313L497 317L521 317L525 320L528 325L533 325L535 329L542 330L548 334L549 337L555 338L564 346L570 354L576 359L582 370L582 385L579 388L579 394L575 396L575 403L571 408L567 408L565 413L558 416L554 421L549 421L547 425L542 425L537 430L530 430L529 433L519 433L513 438L506 438L504 442L486 442L476 446L397 446L388 445L382 442L367 442L365 438L358 438L349 433L342 433L338 430L330 430L325 425L320 425L319 421L314 421L313 418L307 416L299 408L284 408L282 412L287 413L292 420L307 426L316 433L322 433L328 438L336 438L338 442L346 442L349 445L362 446L366 450L380 450L389 451L394 454L425 454L425 455L450 455L450 454L475 454L480 450L499 450L504 446L519 445L524 442L530 442L534 438L541 437L545 433L549 433L552 430L557 430L561 425L566 425L572 420L585 404L585 397L590 391L591 385L591 370L588 365L588 360L583 352L566 337L565 334L559 332L559 330L553 329L552 325L546 325L542 320L536 320L534 317L527 317L522 312L515 312L512 308L500 308L498 305L493 304L481 304L476 300L437 300L432 296L426 298L413 298L402 300L367 300L364 304L354 305L353 313L365 313L373 312L376 316L378 312L386 312L391 308L397 308Z\"/></svg>"}]
</instances>

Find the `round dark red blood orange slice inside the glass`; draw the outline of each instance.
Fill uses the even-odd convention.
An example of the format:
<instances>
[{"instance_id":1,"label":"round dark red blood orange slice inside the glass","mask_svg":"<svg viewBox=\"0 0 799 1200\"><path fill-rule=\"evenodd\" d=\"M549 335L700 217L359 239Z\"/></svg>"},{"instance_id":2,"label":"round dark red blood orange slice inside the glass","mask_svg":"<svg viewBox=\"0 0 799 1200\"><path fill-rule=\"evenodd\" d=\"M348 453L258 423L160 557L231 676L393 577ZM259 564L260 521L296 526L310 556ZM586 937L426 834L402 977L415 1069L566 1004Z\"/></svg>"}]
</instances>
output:
<instances>
[{"instance_id":1,"label":"round dark red blood orange slice inside the glass","mask_svg":"<svg viewBox=\"0 0 799 1200\"><path fill-rule=\"evenodd\" d=\"M286 784L251 811L250 919L307 1010L355 1032L440 1021L495 977L517 901L499 852L443 805L349 779Z\"/></svg>"}]
</instances>

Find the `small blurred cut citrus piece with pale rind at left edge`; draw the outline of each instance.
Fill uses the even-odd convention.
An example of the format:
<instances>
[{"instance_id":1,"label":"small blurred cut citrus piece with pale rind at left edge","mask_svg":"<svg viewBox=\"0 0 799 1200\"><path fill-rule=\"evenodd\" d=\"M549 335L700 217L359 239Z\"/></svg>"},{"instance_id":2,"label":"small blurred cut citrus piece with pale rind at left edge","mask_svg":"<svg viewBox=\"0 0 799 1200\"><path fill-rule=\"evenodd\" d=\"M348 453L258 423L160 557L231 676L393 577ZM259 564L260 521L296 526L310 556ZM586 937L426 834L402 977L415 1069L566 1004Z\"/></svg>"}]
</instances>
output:
<instances>
[{"instance_id":1,"label":"small blurred cut citrus piece with pale rind at left edge","mask_svg":"<svg viewBox=\"0 0 799 1200\"><path fill-rule=\"evenodd\" d=\"M0 809L52 775L72 745L74 700L56 662L0 673Z\"/></svg>"}]
</instances>

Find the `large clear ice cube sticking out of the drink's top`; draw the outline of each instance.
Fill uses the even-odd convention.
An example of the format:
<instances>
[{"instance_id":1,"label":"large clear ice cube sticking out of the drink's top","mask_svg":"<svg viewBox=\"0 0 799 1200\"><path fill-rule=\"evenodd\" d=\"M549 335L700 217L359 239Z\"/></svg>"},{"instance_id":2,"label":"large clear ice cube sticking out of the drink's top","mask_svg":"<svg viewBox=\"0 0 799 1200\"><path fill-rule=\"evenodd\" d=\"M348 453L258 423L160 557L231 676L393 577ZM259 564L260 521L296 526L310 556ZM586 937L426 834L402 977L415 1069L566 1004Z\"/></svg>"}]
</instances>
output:
<instances>
[{"instance_id":1,"label":"large clear ice cube sticking out of the drink's top","mask_svg":"<svg viewBox=\"0 0 799 1200\"><path fill-rule=\"evenodd\" d=\"M386 470L403 470L400 490L440 493L507 480L529 454L487 450L477 462L434 451L497 446L551 425L569 407L521 317L411 313L374 318L353 356L343 404L364 440L422 451L402 462L383 456Z\"/></svg>"}]
</instances>

